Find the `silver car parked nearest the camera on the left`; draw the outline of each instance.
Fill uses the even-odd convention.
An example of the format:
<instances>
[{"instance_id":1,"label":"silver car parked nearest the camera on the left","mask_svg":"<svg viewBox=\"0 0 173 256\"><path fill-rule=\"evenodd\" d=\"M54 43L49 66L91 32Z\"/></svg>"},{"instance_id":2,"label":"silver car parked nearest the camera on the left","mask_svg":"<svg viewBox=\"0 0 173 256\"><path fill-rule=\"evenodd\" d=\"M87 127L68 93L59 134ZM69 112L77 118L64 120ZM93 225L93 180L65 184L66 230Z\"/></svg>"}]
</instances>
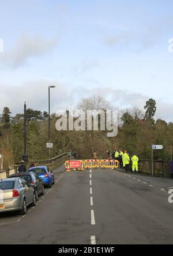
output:
<instances>
[{"instance_id":1,"label":"silver car parked nearest the camera on the left","mask_svg":"<svg viewBox=\"0 0 173 256\"><path fill-rule=\"evenodd\" d=\"M16 211L27 213L27 206L36 205L35 193L22 178L0 178L0 213Z\"/></svg>"}]
</instances>

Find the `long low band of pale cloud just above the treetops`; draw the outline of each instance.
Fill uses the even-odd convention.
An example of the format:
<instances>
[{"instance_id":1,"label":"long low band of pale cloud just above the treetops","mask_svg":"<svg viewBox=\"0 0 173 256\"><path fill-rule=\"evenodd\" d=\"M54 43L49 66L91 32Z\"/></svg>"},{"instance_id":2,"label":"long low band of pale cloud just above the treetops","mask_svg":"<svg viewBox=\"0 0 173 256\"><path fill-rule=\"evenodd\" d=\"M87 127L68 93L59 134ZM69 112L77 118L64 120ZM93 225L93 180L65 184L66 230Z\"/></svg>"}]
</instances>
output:
<instances>
[{"instance_id":1,"label":"long low band of pale cloud just above the treetops","mask_svg":"<svg viewBox=\"0 0 173 256\"><path fill-rule=\"evenodd\" d=\"M111 102L113 107L118 109L137 107L144 111L144 105L150 98L148 95L134 93L127 90L112 89L111 87L93 87L89 90L86 87L70 88L58 81L30 81L22 86L0 85L0 113L3 107L9 107L12 114L23 111L24 101L28 108L44 111L48 109L48 85L55 85L51 89L51 112L66 109L70 104L77 105L82 97L100 95ZM156 100L156 119L164 119L167 122L173 121L173 104L166 103L159 98Z\"/></svg>"}]
</instances>

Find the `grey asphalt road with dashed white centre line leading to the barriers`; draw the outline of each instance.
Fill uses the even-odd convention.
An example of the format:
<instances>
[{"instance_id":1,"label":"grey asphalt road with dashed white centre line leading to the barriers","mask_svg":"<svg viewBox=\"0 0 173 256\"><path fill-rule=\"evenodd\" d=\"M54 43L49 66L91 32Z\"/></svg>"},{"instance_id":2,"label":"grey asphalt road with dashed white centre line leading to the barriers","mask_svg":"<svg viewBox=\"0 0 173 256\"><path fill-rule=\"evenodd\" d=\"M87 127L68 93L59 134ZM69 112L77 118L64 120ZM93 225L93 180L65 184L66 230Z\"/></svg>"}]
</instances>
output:
<instances>
[{"instance_id":1,"label":"grey asphalt road with dashed white centre line leading to the barriers","mask_svg":"<svg viewBox=\"0 0 173 256\"><path fill-rule=\"evenodd\" d=\"M172 244L173 180L118 170L55 170L27 215L0 214L0 244Z\"/></svg>"}]
</instances>

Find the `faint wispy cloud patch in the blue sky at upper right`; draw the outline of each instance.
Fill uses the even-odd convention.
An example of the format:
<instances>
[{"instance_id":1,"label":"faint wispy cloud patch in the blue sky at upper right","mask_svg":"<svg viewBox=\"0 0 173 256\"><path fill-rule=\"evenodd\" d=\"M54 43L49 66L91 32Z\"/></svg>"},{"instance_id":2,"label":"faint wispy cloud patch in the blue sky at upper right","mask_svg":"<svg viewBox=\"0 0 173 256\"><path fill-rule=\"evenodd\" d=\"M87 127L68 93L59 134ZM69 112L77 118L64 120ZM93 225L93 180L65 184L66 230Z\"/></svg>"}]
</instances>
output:
<instances>
[{"instance_id":1,"label":"faint wispy cloud patch in the blue sky at upper right","mask_svg":"<svg viewBox=\"0 0 173 256\"><path fill-rule=\"evenodd\" d=\"M170 33L172 30L173 19L167 17L167 19L157 19L149 24L141 24L142 29L134 28L133 30L121 30L120 28L114 28L114 32L108 34L104 37L104 42L107 46L113 47L119 44L127 46L133 46L133 50L136 49L137 52L142 50L151 49L154 46L158 46L161 42L166 43L164 35ZM111 25L108 26L111 28Z\"/></svg>"}]
</instances>

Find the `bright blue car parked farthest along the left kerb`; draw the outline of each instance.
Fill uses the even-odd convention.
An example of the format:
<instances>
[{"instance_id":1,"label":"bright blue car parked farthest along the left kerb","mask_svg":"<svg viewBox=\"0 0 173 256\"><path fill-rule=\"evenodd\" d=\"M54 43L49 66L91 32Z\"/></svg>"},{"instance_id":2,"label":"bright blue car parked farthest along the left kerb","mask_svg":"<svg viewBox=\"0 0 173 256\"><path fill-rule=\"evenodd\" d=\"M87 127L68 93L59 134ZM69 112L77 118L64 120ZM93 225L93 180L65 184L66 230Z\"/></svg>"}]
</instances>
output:
<instances>
[{"instance_id":1,"label":"bright blue car parked farthest along the left kerb","mask_svg":"<svg viewBox=\"0 0 173 256\"><path fill-rule=\"evenodd\" d=\"M55 184L54 171L50 171L47 166L31 167L28 173L33 171L39 178L42 178L44 186L51 188L52 184Z\"/></svg>"}]
</instances>

